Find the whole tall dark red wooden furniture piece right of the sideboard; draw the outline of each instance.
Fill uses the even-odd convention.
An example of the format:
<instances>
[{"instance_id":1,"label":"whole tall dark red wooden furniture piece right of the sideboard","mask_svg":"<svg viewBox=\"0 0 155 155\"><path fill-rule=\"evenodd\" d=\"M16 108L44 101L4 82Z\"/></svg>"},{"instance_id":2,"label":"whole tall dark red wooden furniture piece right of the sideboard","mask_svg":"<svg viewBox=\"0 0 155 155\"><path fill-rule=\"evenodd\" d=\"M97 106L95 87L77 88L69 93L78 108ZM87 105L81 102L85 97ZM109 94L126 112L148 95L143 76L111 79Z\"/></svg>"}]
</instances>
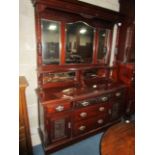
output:
<instances>
[{"instance_id":1,"label":"whole tall dark red wooden furniture piece right of the sideboard","mask_svg":"<svg viewBox=\"0 0 155 155\"><path fill-rule=\"evenodd\" d=\"M125 17L119 27L118 53L113 78L127 88L126 113L135 112L135 0L120 0L120 13Z\"/></svg>"}]
</instances>

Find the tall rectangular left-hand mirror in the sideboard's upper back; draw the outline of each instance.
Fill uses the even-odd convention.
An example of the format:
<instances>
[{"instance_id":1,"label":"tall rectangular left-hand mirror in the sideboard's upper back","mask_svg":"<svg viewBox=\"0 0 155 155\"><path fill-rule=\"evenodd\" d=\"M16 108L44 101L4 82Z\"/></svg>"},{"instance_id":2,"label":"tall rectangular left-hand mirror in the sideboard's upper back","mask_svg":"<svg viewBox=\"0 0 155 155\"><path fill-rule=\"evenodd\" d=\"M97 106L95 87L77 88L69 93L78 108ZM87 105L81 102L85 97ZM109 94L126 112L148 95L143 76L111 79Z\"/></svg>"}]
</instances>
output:
<instances>
[{"instance_id":1,"label":"tall rectangular left-hand mirror in the sideboard's upper back","mask_svg":"<svg viewBox=\"0 0 155 155\"><path fill-rule=\"evenodd\" d=\"M59 64L60 23L41 19L43 64Z\"/></svg>"}]
</instances>

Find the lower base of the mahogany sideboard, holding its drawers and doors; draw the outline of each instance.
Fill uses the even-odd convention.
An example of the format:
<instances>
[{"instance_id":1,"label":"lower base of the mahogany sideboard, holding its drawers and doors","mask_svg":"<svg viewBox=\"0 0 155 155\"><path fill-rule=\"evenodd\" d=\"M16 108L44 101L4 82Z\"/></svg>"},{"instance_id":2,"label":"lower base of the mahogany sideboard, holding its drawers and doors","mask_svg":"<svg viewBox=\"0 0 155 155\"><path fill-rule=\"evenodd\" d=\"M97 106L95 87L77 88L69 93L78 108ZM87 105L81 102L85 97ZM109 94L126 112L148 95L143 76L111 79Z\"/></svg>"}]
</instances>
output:
<instances>
[{"instance_id":1,"label":"lower base of the mahogany sideboard, holding its drawers and doors","mask_svg":"<svg viewBox=\"0 0 155 155\"><path fill-rule=\"evenodd\" d=\"M40 132L43 139L48 137L42 141L45 152L47 148L51 148L47 149L47 152L53 152L65 146L65 143L71 144L82 135L96 134L101 128L104 129L120 120L125 112L126 87L118 83L110 86L97 85L97 87L97 89L67 88L71 92L63 89L57 92L52 92L51 89L42 90L44 95L40 96L39 105L43 108L44 127L42 128L40 124ZM119 104L115 106L116 103ZM65 123L62 125L65 126L64 136L51 139L57 120Z\"/></svg>"}]
</instances>

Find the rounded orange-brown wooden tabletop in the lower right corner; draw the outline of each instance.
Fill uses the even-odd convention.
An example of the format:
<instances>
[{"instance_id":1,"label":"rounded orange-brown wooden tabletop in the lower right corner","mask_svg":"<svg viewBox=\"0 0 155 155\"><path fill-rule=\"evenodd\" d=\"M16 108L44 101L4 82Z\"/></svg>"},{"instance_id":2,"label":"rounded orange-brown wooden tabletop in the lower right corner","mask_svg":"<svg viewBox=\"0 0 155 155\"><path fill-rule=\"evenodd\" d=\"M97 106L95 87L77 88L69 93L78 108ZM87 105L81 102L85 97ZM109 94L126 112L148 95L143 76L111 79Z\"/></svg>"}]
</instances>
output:
<instances>
[{"instance_id":1,"label":"rounded orange-brown wooden tabletop in the lower right corner","mask_svg":"<svg viewBox=\"0 0 155 155\"><path fill-rule=\"evenodd\" d=\"M101 155L134 155L134 123L119 123L111 126L102 136Z\"/></svg>"}]
</instances>

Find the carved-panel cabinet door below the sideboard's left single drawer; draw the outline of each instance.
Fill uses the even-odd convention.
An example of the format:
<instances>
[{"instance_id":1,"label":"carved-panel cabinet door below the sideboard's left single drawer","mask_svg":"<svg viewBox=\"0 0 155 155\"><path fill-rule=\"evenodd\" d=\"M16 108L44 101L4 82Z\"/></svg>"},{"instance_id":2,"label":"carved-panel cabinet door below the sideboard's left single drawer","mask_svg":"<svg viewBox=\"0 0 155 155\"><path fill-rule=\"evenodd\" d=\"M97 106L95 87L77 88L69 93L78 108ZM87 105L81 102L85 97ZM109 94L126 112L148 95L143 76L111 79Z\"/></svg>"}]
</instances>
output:
<instances>
[{"instance_id":1,"label":"carved-panel cabinet door below the sideboard's left single drawer","mask_svg":"<svg viewBox=\"0 0 155 155\"><path fill-rule=\"evenodd\" d=\"M70 116L59 117L50 120L51 142L69 138L71 135Z\"/></svg>"}]
</instances>

